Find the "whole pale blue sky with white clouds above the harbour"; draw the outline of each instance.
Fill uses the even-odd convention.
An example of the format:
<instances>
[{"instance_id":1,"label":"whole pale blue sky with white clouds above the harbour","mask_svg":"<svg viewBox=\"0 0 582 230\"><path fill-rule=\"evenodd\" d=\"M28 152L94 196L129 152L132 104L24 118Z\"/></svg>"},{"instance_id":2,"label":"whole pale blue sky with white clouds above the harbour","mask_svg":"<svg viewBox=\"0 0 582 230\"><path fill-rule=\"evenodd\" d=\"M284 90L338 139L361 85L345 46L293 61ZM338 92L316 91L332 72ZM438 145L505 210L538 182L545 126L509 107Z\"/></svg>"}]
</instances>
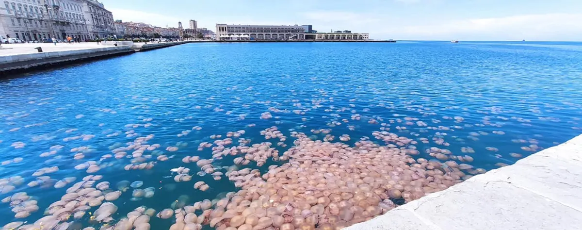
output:
<instances>
[{"instance_id":1,"label":"whole pale blue sky with white clouds above the harbour","mask_svg":"<svg viewBox=\"0 0 582 230\"><path fill-rule=\"evenodd\" d=\"M582 41L582 0L99 0L123 22L352 30L372 39Z\"/></svg>"}]
</instances>

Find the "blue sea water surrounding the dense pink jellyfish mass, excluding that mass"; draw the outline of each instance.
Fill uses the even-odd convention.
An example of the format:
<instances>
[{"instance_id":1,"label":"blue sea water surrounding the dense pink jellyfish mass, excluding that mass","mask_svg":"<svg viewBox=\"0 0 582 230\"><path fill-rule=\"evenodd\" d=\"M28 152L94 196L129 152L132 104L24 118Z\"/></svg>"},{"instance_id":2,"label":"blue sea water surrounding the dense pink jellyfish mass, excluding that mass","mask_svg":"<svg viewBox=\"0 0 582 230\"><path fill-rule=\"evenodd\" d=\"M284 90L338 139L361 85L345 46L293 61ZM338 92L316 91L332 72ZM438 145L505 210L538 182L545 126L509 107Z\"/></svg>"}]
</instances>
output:
<instances>
[{"instance_id":1,"label":"blue sea water surrounding the dense pink jellyfish mass, excluding that mass","mask_svg":"<svg viewBox=\"0 0 582 230\"><path fill-rule=\"evenodd\" d=\"M0 178L22 176L24 182L0 198L27 192L40 210L16 219L2 203L0 226L38 220L70 186L27 186L37 169L58 166L47 175L74 176L79 182L90 174L74 167L90 160L102 164L95 174L112 187L126 180L156 188L154 197L141 200L130 200L131 189L123 193L113 201L119 207L114 218L141 205L168 208L181 195L190 204L212 200L237 188L225 177L214 181L210 175L175 183L168 178L170 169L184 166L186 155L211 158L210 148L197 150L203 141L214 141L211 135L225 138L227 132L246 130L242 137L260 143L265 141L260 131L271 126L286 136L292 130L311 136L312 129L329 128L334 141L346 134L351 137L346 143L353 144L385 123L390 132L418 140L416 158L431 159L426 150L439 147L470 155L474 161L464 163L475 168L495 169L580 134L580 63L581 43L185 44L14 76L0 80ZM261 119L267 111L273 118ZM125 171L127 158L101 160L112 148L147 135L161 145L163 153L154 154L175 157L158 161L150 171ZM423 137L430 142L422 143ZM285 143L288 147L278 147L281 153L293 146L293 138ZM63 146L58 153L40 157L56 145ZM90 150L74 160L71 149L81 146ZM166 151L171 146L179 150ZM463 147L474 153L463 153ZM15 162L18 157L22 161ZM264 172L269 164L281 163L249 167ZM215 167L230 165L230 157L214 162ZM194 190L196 181L211 189ZM87 218L74 222L87 227ZM167 229L172 219L152 218L150 224Z\"/></svg>"}]
</instances>

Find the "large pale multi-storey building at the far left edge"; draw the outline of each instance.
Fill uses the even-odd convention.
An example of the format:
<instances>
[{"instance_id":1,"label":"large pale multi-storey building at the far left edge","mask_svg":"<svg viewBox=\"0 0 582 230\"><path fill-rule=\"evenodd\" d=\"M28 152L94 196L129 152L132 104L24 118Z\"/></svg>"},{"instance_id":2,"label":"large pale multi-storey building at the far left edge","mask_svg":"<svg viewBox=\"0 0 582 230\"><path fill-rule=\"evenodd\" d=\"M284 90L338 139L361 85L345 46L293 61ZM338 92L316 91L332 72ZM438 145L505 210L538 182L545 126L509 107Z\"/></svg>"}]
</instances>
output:
<instances>
[{"instance_id":1,"label":"large pale multi-storey building at the far left edge","mask_svg":"<svg viewBox=\"0 0 582 230\"><path fill-rule=\"evenodd\" d=\"M89 36L83 20L84 0L6 0L0 5L0 36L21 40Z\"/></svg>"}]
</instances>

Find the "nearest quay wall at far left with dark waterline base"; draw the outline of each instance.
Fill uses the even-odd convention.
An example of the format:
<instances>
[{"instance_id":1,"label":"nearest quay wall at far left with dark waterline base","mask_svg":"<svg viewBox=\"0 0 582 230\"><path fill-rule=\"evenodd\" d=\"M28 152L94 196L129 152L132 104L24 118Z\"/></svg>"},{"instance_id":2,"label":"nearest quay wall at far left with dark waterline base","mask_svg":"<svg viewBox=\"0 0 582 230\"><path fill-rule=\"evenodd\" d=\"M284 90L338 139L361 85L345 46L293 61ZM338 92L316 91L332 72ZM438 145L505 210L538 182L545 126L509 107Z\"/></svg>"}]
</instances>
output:
<instances>
[{"instance_id":1,"label":"nearest quay wall at far left with dark waterline base","mask_svg":"<svg viewBox=\"0 0 582 230\"><path fill-rule=\"evenodd\" d=\"M132 52L129 46L118 46L0 56L0 76Z\"/></svg>"}]
</instances>

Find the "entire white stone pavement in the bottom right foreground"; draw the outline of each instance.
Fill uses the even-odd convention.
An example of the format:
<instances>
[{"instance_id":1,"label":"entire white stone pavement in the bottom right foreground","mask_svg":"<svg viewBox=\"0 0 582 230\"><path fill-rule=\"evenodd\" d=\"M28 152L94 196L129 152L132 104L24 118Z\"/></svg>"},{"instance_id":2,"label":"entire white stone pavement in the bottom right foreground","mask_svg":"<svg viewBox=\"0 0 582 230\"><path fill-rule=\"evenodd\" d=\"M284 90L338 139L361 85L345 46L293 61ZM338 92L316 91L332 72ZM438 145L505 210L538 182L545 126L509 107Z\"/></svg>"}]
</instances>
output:
<instances>
[{"instance_id":1,"label":"entire white stone pavement in the bottom right foreground","mask_svg":"<svg viewBox=\"0 0 582 230\"><path fill-rule=\"evenodd\" d=\"M347 229L582 229L582 135Z\"/></svg>"}]
</instances>

